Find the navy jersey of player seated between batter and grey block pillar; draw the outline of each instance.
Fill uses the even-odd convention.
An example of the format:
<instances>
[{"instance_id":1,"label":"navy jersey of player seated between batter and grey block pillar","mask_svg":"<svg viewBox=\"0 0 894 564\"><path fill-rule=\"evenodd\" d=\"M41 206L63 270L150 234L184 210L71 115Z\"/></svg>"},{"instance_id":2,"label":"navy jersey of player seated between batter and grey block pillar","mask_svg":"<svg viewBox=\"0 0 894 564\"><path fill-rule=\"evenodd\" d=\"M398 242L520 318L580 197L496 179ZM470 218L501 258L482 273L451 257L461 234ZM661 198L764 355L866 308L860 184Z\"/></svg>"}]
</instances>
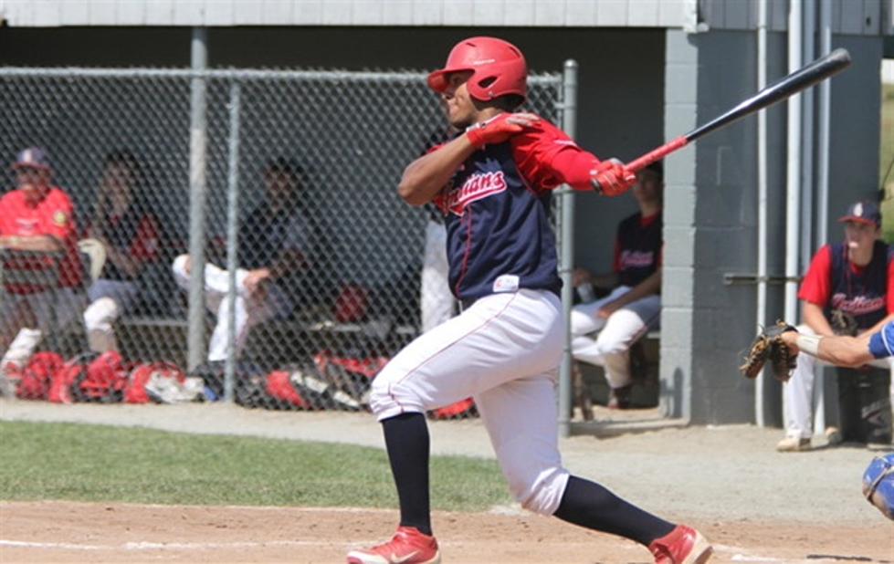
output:
<instances>
[{"instance_id":1,"label":"navy jersey of player seated between batter and grey block pillar","mask_svg":"<svg viewBox=\"0 0 894 564\"><path fill-rule=\"evenodd\" d=\"M617 226L615 272L622 286L634 287L661 264L661 213L627 217Z\"/></svg>"}]
</instances>

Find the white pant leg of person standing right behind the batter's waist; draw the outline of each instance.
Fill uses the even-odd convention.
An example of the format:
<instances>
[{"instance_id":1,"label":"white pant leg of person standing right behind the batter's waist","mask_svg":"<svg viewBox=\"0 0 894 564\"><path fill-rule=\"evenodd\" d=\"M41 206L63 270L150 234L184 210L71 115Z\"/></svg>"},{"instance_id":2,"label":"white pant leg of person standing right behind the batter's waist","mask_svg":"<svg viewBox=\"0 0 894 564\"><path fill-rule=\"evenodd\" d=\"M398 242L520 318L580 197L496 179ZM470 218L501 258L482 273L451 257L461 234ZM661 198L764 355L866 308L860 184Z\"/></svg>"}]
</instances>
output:
<instances>
[{"instance_id":1,"label":"white pant leg of person standing right behind the batter's waist","mask_svg":"<svg viewBox=\"0 0 894 564\"><path fill-rule=\"evenodd\" d=\"M430 221L426 225L426 248L422 261L419 307L422 332L426 333L453 317L454 302L447 281L447 228Z\"/></svg>"}]
</instances>

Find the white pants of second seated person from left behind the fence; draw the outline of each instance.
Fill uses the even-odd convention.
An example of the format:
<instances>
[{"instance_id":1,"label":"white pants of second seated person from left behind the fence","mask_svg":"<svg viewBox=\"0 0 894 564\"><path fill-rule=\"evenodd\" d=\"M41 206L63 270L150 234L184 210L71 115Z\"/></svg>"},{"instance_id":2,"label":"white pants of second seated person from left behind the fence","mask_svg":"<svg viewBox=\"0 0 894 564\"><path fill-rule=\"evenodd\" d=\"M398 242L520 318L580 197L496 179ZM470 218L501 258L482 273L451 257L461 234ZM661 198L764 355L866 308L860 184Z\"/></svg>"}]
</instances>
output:
<instances>
[{"instance_id":1,"label":"white pants of second seated person from left behind the fence","mask_svg":"<svg viewBox=\"0 0 894 564\"><path fill-rule=\"evenodd\" d=\"M87 290L89 306L84 310L84 323L90 350L118 350L114 323L121 313L132 308L140 289L129 280L100 278Z\"/></svg>"}]
</instances>

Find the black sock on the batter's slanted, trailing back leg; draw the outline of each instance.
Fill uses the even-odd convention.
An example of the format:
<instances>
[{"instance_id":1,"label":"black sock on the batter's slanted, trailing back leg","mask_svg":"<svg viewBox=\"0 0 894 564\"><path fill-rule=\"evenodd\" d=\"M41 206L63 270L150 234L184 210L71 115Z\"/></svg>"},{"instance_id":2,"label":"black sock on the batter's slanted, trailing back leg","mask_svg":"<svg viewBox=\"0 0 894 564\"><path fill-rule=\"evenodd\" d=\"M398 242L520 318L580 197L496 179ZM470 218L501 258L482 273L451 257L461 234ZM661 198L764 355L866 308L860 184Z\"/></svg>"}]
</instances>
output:
<instances>
[{"instance_id":1,"label":"black sock on the batter's slanted, trailing back leg","mask_svg":"<svg viewBox=\"0 0 894 564\"><path fill-rule=\"evenodd\" d=\"M562 502L553 515L574 525L619 535L646 546L675 527L627 503L605 487L576 476L568 478Z\"/></svg>"}]
</instances>

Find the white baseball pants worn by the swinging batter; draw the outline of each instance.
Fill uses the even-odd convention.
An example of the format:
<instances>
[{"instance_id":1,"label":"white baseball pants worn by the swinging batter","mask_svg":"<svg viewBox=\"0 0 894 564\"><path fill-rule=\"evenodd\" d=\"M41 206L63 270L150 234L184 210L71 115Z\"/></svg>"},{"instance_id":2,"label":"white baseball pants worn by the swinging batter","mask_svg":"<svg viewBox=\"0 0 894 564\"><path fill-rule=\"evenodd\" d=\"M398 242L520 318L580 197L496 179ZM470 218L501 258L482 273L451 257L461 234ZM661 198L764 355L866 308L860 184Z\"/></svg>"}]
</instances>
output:
<instances>
[{"instance_id":1,"label":"white baseball pants worn by the swinging batter","mask_svg":"<svg viewBox=\"0 0 894 564\"><path fill-rule=\"evenodd\" d=\"M556 428L563 333L562 304L551 292L481 298L379 372L373 413L382 421L472 396L512 495L523 507L552 515L568 482Z\"/></svg>"}]
</instances>

